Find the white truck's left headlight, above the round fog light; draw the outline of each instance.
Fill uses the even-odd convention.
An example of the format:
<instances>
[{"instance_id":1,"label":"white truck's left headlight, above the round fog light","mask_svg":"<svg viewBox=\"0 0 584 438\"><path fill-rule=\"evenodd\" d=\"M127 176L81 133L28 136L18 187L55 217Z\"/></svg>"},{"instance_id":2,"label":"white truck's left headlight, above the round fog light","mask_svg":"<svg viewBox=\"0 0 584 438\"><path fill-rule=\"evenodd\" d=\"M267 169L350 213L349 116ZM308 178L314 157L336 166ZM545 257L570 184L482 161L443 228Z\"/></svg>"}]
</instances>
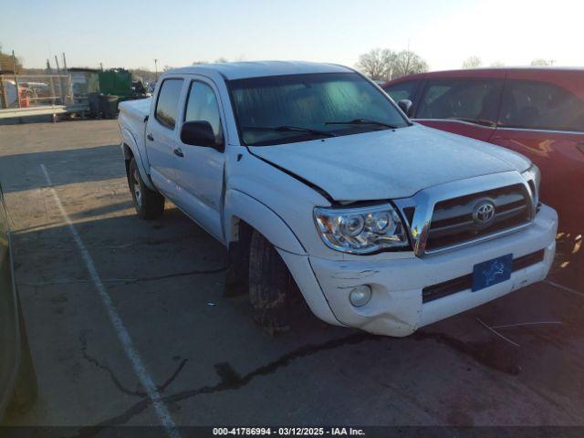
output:
<instances>
[{"instance_id":1,"label":"white truck's left headlight, above the round fog light","mask_svg":"<svg viewBox=\"0 0 584 438\"><path fill-rule=\"evenodd\" d=\"M318 234L332 249L368 254L409 246L399 214L389 204L360 208L314 209Z\"/></svg>"}]
</instances>

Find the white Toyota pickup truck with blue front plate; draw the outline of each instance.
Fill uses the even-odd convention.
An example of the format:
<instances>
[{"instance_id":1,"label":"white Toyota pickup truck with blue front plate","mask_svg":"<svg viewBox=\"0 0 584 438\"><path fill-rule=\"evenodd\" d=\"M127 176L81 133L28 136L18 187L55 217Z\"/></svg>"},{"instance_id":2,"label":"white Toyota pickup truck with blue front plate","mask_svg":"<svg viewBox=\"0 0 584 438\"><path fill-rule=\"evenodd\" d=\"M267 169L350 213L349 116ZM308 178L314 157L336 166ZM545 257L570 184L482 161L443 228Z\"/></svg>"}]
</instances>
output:
<instances>
[{"instance_id":1,"label":"white Toyota pickup truck with blue front plate","mask_svg":"<svg viewBox=\"0 0 584 438\"><path fill-rule=\"evenodd\" d=\"M229 250L256 320L406 336L544 279L558 216L525 157L412 123L351 68L178 68L120 104L138 214L165 198Z\"/></svg>"}]
</instances>

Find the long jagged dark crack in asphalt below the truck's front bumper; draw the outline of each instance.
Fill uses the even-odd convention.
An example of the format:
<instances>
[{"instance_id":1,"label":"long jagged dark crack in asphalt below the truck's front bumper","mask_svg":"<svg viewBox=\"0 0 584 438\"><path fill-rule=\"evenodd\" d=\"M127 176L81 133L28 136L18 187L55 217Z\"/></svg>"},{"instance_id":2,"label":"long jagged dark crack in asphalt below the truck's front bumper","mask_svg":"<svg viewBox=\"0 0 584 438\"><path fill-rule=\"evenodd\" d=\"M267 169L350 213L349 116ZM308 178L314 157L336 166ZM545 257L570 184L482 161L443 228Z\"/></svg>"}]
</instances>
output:
<instances>
[{"instance_id":1,"label":"long jagged dark crack in asphalt below the truck's front bumper","mask_svg":"<svg viewBox=\"0 0 584 438\"><path fill-rule=\"evenodd\" d=\"M280 368L286 368L294 360L312 356L321 351L327 351L330 349L338 349L339 347L344 347L346 345L355 345L366 340L381 340L385 337L371 335L370 333L359 332L353 333L344 338L331 339L322 344L314 345L308 344L303 347L294 349L279 359L269 362L266 365L256 368L240 376L232 367L226 362L215 364L215 370L220 378L220 382L215 385L205 385L194 390L180 391L175 394L167 395L162 397L162 401L165 403L176 403L178 401L184 401L201 394L211 394L215 392L238 390L243 386L247 385L253 381L256 377L266 376L268 374L273 374L276 370ZM87 438L97 435L100 431L107 429L111 426L116 426L129 422L130 419L141 412L145 411L151 405L151 401L148 399L142 399L134 405L130 406L125 412L111 417L108 420L99 422L95 425L84 426L78 430L78 433L72 438Z\"/></svg>"}]
</instances>

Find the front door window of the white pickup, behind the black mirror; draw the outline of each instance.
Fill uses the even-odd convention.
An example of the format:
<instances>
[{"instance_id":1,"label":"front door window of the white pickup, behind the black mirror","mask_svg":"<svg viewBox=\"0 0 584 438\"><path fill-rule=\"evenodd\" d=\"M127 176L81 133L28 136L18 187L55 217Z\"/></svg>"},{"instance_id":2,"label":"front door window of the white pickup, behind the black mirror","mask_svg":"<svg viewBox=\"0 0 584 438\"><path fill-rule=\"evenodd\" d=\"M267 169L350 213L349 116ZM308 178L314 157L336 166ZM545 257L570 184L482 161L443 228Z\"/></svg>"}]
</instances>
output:
<instances>
[{"instance_id":1,"label":"front door window of the white pickup, behind the black mirror","mask_svg":"<svg viewBox=\"0 0 584 438\"><path fill-rule=\"evenodd\" d=\"M191 83L184 111L184 121L194 120L208 121L213 128L217 143L223 143L221 116L214 90L207 84L196 80Z\"/></svg>"}]
</instances>

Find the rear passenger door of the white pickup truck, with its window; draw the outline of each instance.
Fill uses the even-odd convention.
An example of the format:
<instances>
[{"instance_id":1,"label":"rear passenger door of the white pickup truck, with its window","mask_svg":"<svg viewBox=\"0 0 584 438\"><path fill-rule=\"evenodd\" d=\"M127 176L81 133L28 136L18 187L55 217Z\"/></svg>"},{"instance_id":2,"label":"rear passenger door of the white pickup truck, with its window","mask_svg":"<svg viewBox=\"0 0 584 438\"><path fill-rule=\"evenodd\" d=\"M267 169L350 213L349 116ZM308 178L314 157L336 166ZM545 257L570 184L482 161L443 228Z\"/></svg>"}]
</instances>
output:
<instances>
[{"instance_id":1,"label":"rear passenger door of the white pickup truck, with its window","mask_svg":"<svg viewBox=\"0 0 584 438\"><path fill-rule=\"evenodd\" d=\"M156 105L146 124L146 149L151 164L154 184L169 194L176 183L174 150L176 149L176 124L183 78L166 78L162 81Z\"/></svg>"}]
</instances>

